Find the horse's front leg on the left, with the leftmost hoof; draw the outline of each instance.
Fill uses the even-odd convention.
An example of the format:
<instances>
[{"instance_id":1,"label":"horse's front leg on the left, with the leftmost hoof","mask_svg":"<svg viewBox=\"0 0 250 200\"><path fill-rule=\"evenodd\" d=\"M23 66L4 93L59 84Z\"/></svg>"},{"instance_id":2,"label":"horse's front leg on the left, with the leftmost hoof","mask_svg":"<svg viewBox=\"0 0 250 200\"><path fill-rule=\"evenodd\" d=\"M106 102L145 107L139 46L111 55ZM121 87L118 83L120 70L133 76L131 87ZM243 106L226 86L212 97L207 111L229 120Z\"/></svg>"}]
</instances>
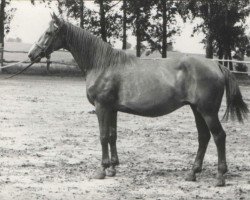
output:
<instances>
[{"instance_id":1,"label":"horse's front leg on the left, with the leftmost hoof","mask_svg":"<svg viewBox=\"0 0 250 200\"><path fill-rule=\"evenodd\" d=\"M95 107L99 122L100 141L102 145L102 169L98 171L95 178L104 179L106 176L106 169L110 167L108 144L111 111L99 103L96 103Z\"/></svg>"}]
</instances>

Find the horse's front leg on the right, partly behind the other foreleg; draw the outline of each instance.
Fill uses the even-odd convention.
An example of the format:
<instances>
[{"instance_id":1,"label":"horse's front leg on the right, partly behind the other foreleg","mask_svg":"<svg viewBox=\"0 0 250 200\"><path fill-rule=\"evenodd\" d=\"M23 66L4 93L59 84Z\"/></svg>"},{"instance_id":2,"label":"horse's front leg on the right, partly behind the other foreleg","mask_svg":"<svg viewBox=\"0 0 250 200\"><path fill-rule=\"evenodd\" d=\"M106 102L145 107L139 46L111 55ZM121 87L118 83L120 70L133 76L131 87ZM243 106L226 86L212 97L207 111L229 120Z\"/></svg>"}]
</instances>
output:
<instances>
[{"instance_id":1,"label":"horse's front leg on the right, partly behind the other foreleg","mask_svg":"<svg viewBox=\"0 0 250 200\"><path fill-rule=\"evenodd\" d=\"M114 111L110 116L110 126L109 126L109 145L111 152L111 166L107 170L107 176L115 176L116 169L115 166L119 165L119 159L116 148L116 140L117 140L117 112Z\"/></svg>"}]
</instances>

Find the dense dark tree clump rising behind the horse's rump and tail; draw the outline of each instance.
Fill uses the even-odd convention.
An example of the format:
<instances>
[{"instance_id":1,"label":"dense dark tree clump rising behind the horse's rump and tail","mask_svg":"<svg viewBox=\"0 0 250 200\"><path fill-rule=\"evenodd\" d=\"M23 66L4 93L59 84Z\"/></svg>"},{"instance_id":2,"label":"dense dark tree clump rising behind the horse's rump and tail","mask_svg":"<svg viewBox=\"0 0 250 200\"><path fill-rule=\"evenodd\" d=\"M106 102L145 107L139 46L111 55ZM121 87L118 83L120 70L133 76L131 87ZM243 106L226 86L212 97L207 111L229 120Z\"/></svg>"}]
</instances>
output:
<instances>
[{"instance_id":1,"label":"dense dark tree clump rising behind the horse's rump and tail","mask_svg":"<svg viewBox=\"0 0 250 200\"><path fill-rule=\"evenodd\" d=\"M188 0L182 2L182 16L203 22L194 33L203 32L206 37L206 57L212 58L213 52L219 58L231 59L231 50L242 45L245 40L244 22L249 15L249 0ZM190 15L191 12L191 15ZM245 45L245 44L244 44Z\"/></svg>"}]
</instances>

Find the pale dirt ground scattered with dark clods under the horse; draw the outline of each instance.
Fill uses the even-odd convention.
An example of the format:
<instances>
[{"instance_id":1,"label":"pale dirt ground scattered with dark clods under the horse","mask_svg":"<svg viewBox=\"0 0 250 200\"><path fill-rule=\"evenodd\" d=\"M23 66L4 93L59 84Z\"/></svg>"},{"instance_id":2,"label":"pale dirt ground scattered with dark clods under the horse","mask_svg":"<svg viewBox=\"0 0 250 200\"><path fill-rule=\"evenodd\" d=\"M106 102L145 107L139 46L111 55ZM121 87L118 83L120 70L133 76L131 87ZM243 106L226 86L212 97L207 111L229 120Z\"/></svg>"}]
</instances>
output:
<instances>
[{"instance_id":1,"label":"pale dirt ground scattered with dark clods under the horse","mask_svg":"<svg viewBox=\"0 0 250 200\"><path fill-rule=\"evenodd\" d=\"M250 199L250 119L223 123L229 172L215 187L213 140L197 182L185 176L197 151L189 107L160 118L118 116L117 176L94 180L101 146L81 78L0 76L0 199ZM250 86L241 86L250 107ZM223 102L220 115L224 113Z\"/></svg>"}]
</instances>

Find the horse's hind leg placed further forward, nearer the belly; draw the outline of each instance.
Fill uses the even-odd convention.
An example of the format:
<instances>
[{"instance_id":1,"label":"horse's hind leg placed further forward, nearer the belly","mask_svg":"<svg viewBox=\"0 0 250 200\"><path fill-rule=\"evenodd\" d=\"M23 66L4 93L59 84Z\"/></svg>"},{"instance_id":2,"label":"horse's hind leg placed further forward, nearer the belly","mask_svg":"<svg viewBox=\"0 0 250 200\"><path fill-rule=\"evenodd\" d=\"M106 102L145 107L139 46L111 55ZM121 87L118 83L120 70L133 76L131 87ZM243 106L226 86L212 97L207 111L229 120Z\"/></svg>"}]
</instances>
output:
<instances>
[{"instance_id":1,"label":"horse's hind leg placed further forward, nearer the belly","mask_svg":"<svg viewBox=\"0 0 250 200\"><path fill-rule=\"evenodd\" d=\"M196 154L196 158L194 161L193 168L191 172L188 174L186 180L187 181L196 181L196 173L201 172L202 170L202 163L203 159L206 153L207 145L210 140L210 131L207 127L207 124L202 117L202 115L196 110L195 107L191 106L194 116L195 116L195 122L196 122L196 127L198 130L198 142L199 142L199 147L198 151Z\"/></svg>"}]
</instances>

